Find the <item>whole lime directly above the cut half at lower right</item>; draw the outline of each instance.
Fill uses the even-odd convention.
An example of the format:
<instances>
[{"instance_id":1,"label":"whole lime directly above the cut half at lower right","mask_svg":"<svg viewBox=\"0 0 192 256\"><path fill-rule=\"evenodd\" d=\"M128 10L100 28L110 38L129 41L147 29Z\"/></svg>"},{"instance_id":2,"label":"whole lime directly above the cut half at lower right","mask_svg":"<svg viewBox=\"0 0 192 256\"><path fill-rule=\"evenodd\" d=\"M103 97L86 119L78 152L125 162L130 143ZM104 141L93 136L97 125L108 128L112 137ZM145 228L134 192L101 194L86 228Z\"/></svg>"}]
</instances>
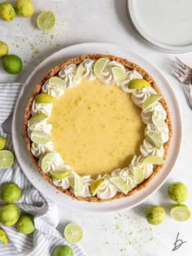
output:
<instances>
[{"instance_id":1,"label":"whole lime directly above the cut half at lower right","mask_svg":"<svg viewBox=\"0 0 192 256\"><path fill-rule=\"evenodd\" d=\"M187 199L188 189L184 183L180 183L180 182L171 183L168 186L168 196L172 199L172 201L181 203Z\"/></svg>"}]
</instances>

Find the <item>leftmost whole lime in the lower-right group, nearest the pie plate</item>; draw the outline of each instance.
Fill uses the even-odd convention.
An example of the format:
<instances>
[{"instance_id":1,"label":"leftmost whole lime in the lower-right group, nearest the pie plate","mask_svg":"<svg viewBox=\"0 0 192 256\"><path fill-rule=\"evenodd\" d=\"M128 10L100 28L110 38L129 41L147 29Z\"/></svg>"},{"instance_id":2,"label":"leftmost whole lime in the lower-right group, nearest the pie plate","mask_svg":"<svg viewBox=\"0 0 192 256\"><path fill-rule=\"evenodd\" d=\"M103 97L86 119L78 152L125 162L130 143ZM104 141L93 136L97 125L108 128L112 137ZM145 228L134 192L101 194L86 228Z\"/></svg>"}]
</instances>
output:
<instances>
[{"instance_id":1,"label":"leftmost whole lime in the lower-right group, nearest the pie plate","mask_svg":"<svg viewBox=\"0 0 192 256\"><path fill-rule=\"evenodd\" d=\"M146 209L146 220L152 225L159 225L164 222L165 211L159 205L152 205Z\"/></svg>"}]
</instances>

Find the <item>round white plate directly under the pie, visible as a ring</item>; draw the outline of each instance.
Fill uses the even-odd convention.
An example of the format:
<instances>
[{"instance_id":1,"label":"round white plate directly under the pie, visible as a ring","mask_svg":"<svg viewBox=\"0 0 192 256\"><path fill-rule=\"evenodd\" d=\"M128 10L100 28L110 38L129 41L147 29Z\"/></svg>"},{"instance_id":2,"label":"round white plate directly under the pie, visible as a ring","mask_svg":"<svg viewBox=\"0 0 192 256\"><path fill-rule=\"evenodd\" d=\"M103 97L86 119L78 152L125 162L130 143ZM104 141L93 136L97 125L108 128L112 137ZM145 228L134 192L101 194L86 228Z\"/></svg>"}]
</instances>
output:
<instances>
[{"instance_id":1,"label":"round white plate directly under the pie, visible as a ring","mask_svg":"<svg viewBox=\"0 0 192 256\"><path fill-rule=\"evenodd\" d=\"M63 62L63 60L84 54L112 54L123 58L127 58L139 64L142 68L145 68L147 72L155 78L155 81L162 90L165 99L168 101L168 107L172 114L172 126L173 126L173 137L172 143L168 154L168 160L166 161L163 169L156 175L155 179L151 181L149 186L142 191L137 192L133 196L125 197L120 200L103 202L103 203L89 203L84 201L76 201L70 196L66 196L62 192L59 192L56 188L47 183L46 180L41 178L37 170L33 168L32 161L28 157L28 151L24 141L24 109L28 102L28 97L32 95L33 87L45 76L50 68ZM144 60L133 51L129 51L123 46L117 46L108 43L82 43L74 46L68 46L62 50L55 52L50 55L46 60L41 62L33 70L33 73L28 77L24 84L24 87L20 91L17 103L15 105L14 116L12 120L12 139L15 149L15 155L20 162L20 166L27 176L28 180L33 183L41 193L49 197L52 201L57 204L67 207L72 210L82 210L89 212L107 213L118 210L125 210L132 208L142 201L146 200L148 196L151 196L168 178L171 173L173 166L177 161L177 157L181 148L181 112L176 96L169 85L168 81L159 72L157 68L148 61Z\"/></svg>"}]
</instances>

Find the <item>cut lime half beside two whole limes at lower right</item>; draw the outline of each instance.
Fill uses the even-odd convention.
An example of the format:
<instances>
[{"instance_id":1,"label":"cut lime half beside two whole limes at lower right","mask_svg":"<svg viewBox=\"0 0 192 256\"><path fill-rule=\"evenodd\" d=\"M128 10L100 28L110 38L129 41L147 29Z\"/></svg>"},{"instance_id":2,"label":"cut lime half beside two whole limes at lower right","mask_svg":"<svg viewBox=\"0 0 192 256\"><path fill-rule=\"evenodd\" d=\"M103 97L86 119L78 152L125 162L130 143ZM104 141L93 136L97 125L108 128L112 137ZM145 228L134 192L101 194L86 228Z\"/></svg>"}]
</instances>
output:
<instances>
[{"instance_id":1,"label":"cut lime half beside two whole limes at lower right","mask_svg":"<svg viewBox=\"0 0 192 256\"><path fill-rule=\"evenodd\" d=\"M177 204L170 210L172 218L179 222L186 221L190 218L190 209L184 204Z\"/></svg>"}]
</instances>

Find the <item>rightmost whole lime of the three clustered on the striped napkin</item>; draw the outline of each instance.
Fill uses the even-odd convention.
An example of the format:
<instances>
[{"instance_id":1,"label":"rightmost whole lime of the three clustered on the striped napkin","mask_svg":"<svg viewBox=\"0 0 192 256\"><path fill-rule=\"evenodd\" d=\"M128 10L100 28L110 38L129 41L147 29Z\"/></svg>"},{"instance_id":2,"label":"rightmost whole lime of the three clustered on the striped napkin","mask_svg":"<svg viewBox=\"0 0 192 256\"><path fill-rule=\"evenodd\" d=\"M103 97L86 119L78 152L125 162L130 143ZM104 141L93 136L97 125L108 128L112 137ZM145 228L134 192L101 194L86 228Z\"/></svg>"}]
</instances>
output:
<instances>
[{"instance_id":1,"label":"rightmost whole lime of the three clustered on the striped napkin","mask_svg":"<svg viewBox=\"0 0 192 256\"><path fill-rule=\"evenodd\" d=\"M18 222L16 223L16 228L20 233L25 235L33 233L35 230L33 216L30 214L21 215Z\"/></svg>"}]
</instances>

